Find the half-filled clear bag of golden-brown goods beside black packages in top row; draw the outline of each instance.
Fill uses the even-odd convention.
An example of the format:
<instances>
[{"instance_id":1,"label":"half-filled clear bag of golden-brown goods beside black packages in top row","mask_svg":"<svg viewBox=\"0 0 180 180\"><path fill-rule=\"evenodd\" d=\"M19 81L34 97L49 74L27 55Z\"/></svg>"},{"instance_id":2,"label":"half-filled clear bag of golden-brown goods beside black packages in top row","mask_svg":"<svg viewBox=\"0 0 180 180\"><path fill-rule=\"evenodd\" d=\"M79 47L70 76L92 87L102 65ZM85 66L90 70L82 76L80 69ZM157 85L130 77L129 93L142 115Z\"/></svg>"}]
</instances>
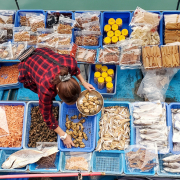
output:
<instances>
[{"instance_id":1,"label":"half-filled clear bag of golden-brown goods beside black packages in top row","mask_svg":"<svg viewBox=\"0 0 180 180\"><path fill-rule=\"evenodd\" d=\"M74 25L75 20L61 15L59 17L59 25L57 27L57 32L59 34L72 34L72 29L74 28Z\"/></svg>"}]
</instances>

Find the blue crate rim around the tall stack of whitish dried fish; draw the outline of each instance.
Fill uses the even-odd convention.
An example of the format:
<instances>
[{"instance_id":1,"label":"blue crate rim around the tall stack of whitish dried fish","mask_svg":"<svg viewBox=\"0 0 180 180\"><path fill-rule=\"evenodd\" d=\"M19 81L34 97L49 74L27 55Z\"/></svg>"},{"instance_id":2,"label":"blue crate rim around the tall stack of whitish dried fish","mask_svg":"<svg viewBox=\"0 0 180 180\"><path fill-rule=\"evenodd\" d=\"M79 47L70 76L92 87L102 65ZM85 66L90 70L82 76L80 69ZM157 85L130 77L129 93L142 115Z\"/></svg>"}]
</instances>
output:
<instances>
[{"instance_id":1,"label":"blue crate rim around the tall stack of whitish dried fish","mask_svg":"<svg viewBox=\"0 0 180 180\"><path fill-rule=\"evenodd\" d=\"M136 103L138 103L138 102L136 102ZM144 102L144 103L147 103L147 102ZM170 130L171 130L171 122L170 122L169 117L168 117L168 114L169 114L168 104L165 103L165 105L166 105L166 125L170 126ZM133 121L134 121L134 118L133 118L133 105L131 105L131 112L132 112L132 125L133 125ZM136 128L134 127L134 125L133 125L133 133L134 133L133 134L133 142L134 142L134 144L136 144ZM172 135L171 135L171 133L169 133L169 136L168 136L169 147L170 147L170 141L172 141L171 139L172 139Z\"/></svg>"}]
</instances>

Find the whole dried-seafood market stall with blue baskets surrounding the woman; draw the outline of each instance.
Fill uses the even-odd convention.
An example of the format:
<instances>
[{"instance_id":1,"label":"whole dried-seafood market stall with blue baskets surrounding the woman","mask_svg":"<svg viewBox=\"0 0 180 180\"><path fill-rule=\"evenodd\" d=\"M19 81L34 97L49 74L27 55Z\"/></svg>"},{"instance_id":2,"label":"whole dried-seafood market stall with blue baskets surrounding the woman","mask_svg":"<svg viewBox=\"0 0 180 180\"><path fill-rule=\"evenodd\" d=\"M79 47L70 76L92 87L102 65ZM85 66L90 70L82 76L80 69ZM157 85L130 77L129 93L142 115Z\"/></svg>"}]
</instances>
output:
<instances>
[{"instance_id":1,"label":"whole dried-seafood market stall with blue baskets surrounding the woman","mask_svg":"<svg viewBox=\"0 0 180 180\"><path fill-rule=\"evenodd\" d=\"M179 11L139 7L0 11L0 172L25 173L0 178L179 177L179 25ZM32 46L74 57L101 94L79 106L53 101L70 149L18 82L18 57Z\"/></svg>"}]
</instances>

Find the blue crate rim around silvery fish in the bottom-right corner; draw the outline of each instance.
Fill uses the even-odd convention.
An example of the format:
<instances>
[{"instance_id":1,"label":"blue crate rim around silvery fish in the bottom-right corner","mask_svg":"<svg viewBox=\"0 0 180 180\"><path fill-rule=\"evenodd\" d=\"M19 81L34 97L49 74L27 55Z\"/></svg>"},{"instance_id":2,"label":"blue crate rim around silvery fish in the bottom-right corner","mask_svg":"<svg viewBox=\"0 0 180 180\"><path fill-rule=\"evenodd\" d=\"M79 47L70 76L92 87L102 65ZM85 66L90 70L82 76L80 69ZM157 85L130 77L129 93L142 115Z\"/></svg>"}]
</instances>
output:
<instances>
[{"instance_id":1,"label":"blue crate rim around silvery fish in the bottom-right corner","mask_svg":"<svg viewBox=\"0 0 180 180\"><path fill-rule=\"evenodd\" d=\"M172 155L172 154L169 154L169 155ZM158 168L158 170L157 170L157 174L158 174L158 176L164 176L164 177L167 177L167 176L170 176L170 177L172 177L172 176L178 176L178 177L180 177L180 173L170 173L170 172L166 172L166 171L164 171L163 170L163 168L164 168L164 166L163 166L163 158L165 157L165 155L164 154L159 154L158 155L158 159L159 159L159 168Z\"/></svg>"}]
</instances>

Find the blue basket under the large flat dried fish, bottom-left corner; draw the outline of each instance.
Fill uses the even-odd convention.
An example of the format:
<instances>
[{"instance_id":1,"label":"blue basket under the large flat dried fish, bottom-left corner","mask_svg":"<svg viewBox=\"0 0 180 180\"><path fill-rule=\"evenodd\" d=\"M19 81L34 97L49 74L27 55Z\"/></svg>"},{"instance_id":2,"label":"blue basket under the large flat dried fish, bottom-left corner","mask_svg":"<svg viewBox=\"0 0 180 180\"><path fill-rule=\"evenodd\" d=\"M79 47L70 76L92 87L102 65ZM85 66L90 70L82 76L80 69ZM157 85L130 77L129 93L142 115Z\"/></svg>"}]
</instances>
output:
<instances>
[{"instance_id":1,"label":"blue basket under the large flat dried fish, bottom-left corner","mask_svg":"<svg viewBox=\"0 0 180 180\"><path fill-rule=\"evenodd\" d=\"M0 171L6 171L6 172L24 172L27 170L27 166L23 168L18 169L2 169L2 164L5 162L5 160L13 153L17 152L16 150L2 150L0 155Z\"/></svg>"}]
</instances>

